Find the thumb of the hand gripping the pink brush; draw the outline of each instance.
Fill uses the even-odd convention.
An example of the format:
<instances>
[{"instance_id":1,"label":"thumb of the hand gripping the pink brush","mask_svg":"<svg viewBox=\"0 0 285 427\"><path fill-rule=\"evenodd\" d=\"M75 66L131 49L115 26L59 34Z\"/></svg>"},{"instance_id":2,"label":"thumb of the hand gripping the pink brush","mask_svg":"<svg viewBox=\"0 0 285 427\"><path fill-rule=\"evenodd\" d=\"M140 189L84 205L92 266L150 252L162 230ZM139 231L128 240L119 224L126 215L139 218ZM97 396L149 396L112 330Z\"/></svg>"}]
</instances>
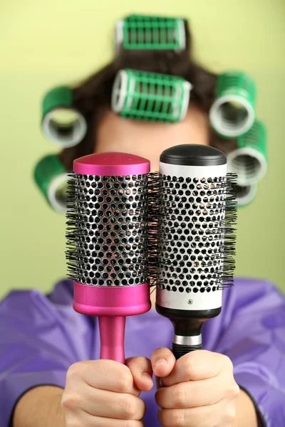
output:
<instances>
[{"instance_id":1,"label":"thumb of the hand gripping the pink brush","mask_svg":"<svg viewBox=\"0 0 285 427\"><path fill-rule=\"evenodd\" d=\"M152 366L150 359L147 357L130 357L126 361L127 367L130 369L135 386L141 391L149 391L152 389Z\"/></svg>"}]
</instances>

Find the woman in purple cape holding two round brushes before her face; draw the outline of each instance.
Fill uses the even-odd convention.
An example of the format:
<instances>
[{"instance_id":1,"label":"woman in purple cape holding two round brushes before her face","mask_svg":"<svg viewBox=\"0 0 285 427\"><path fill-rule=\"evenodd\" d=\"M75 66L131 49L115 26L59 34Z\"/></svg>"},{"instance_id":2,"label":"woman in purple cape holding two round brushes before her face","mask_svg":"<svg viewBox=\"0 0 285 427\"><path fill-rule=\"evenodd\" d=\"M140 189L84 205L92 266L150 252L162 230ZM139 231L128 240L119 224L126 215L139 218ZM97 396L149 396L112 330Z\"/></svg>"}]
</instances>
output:
<instances>
[{"instance_id":1,"label":"woman in purple cape holding two round brushes before her face","mask_svg":"<svg viewBox=\"0 0 285 427\"><path fill-rule=\"evenodd\" d=\"M190 81L185 120L170 125L115 115L110 94L122 68ZM224 142L209 127L216 79L192 59L188 30L182 53L120 51L113 63L74 90L74 105L89 131L81 144L63 150L61 161L71 170L73 160L85 154L128 152L150 159L157 170L160 153L175 144L233 149L235 141ZM153 292L152 307L154 298ZM49 295L13 291L1 302L6 325L0 337L3 426L284 425L285 301L271 283L235 280L234 288L224 292L222 314L203 327L205 350L177 362L167 349L170 322L155 310L128 318L126 366L98 360L97 320L74 312L72 300L72 283L63 280ZM156 395L152 373L158 379Z\"/></svg>"}]
</instances>

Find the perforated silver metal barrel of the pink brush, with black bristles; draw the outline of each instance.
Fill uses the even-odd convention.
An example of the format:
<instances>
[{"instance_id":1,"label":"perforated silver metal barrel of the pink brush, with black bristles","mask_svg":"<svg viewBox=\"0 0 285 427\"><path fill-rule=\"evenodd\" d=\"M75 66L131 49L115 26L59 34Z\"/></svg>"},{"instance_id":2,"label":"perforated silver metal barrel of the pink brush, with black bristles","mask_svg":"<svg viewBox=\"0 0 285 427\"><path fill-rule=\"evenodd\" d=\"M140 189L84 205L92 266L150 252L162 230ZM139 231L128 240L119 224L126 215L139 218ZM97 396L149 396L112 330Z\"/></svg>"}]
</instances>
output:
<instances>
[{"instance_id":1,"label":"perforated silver metal barrel of the pink brush, with black bristles","mask_svg":"<svg viewBox=\"0 0 285 427\"><path fill-rule=\"evenodd\" d=\"M146 283L147 174L71 176L70 277L93 286Z\"/></svg>"}]
</instances>

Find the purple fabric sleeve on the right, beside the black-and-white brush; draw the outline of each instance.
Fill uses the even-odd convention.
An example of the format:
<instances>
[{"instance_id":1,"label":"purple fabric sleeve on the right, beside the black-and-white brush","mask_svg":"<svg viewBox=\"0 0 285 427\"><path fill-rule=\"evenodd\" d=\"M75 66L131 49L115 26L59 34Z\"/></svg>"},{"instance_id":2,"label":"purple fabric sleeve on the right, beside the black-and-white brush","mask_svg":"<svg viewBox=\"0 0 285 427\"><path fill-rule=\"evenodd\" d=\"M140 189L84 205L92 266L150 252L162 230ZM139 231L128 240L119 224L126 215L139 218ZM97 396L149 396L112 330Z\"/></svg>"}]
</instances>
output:
<instances>
[{"instance_id":1,"label":"purple fabric sleeve on the right, beside the black-and-white brush","mask_svg":"<svg viewBox=\"0 0 285 427\"><path fill-rule=\"evenodd\" d=\"M226 354L237 384L261 413L261 426L285 426L285 298L263 280L237 279L224 291L222 315L207 325L219 338L212 351ZM206 332L206 330L205 330Z\"/></svg>"}]
</instances>

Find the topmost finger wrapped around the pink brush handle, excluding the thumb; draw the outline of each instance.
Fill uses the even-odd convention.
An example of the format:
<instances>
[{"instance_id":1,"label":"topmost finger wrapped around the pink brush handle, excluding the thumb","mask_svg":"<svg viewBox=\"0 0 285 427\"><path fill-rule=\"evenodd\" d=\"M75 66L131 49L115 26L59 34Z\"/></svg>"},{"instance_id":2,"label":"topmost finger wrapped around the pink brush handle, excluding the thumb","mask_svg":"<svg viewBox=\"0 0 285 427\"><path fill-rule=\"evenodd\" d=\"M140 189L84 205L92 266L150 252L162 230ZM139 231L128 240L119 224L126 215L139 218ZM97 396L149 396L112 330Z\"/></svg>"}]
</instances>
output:
<instances>
[{"instance_id":1,"label":"topmost finger wrapped around the pink brush handle, excluding the thumb","mask_svg":"<svg viewBox=\"0 0 285 427\"><path fill-rule=\"evenodd\" d=\"M140 396L133 375L125 365L113 360L86 360L73 364L66 375L66 386L87 383L95 389L115 391L117 393Z\"/></svg>"}]
</instances>

